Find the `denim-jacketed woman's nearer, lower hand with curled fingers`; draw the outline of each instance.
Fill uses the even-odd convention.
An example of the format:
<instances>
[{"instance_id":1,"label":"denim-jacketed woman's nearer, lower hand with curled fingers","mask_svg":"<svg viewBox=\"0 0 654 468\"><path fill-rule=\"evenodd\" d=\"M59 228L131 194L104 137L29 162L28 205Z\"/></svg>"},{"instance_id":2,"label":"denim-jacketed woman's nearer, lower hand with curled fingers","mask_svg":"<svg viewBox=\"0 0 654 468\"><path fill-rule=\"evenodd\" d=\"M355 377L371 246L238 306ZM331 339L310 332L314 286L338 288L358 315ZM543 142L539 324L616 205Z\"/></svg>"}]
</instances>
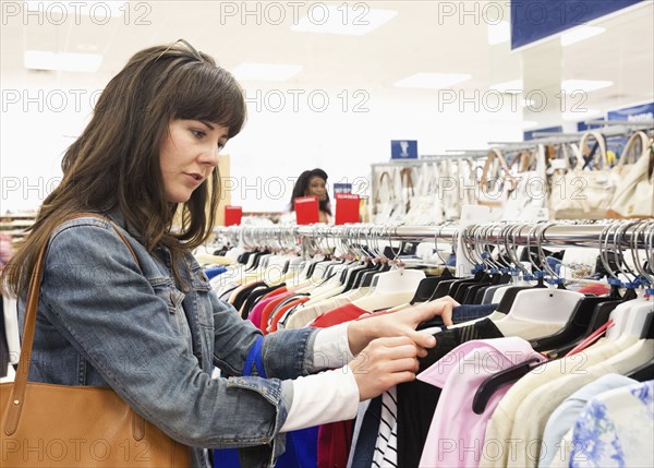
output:
<instances>
[{"instance_id":1,"label":"denim-jacketed woman's nearer, lower hand with curled fingers","mask_svg":"<svg viewBox=\"0 0 654 468\"><path fill-rule=\"evenodd\" d=\"M417 372L417 347L407 337L373 339L348 365L359 385L361 401L411 382Z\"/></svg>"}]
</instances>

